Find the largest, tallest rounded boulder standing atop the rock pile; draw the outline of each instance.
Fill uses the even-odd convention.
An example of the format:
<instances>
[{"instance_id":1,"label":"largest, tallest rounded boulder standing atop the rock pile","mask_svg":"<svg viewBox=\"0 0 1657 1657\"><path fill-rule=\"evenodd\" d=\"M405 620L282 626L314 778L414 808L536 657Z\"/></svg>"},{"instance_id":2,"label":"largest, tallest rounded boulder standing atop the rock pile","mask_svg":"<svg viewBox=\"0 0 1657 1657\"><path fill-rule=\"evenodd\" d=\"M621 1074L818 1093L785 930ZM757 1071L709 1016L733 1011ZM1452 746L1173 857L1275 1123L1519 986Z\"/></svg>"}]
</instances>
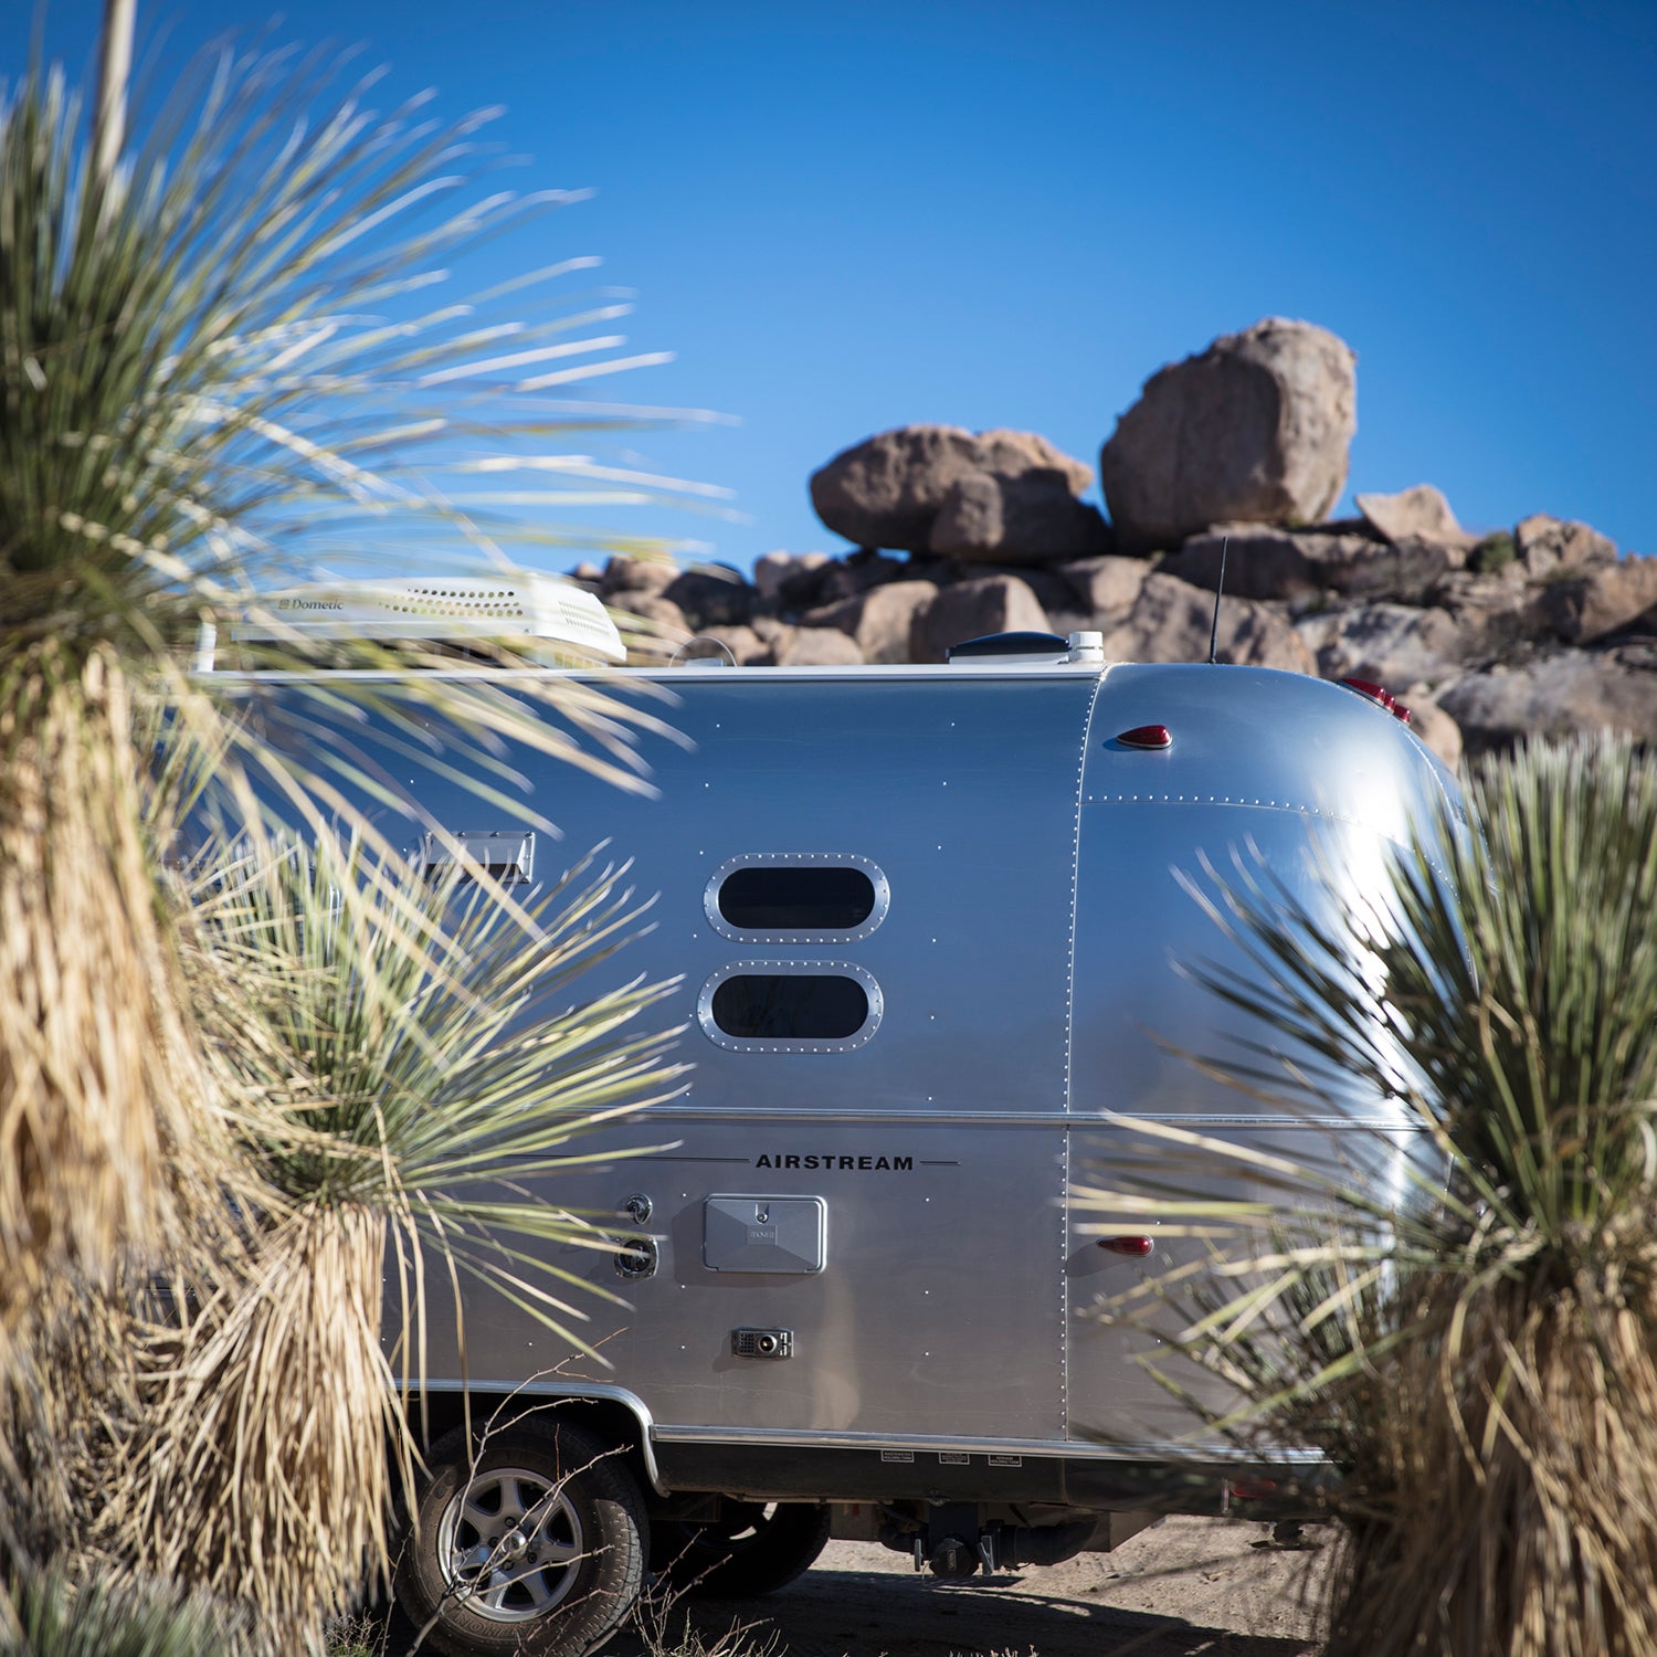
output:
<instances>
[{"instance_id":1,"label":"largest, tallest rounded boulder standing atop the rock pile","mask_svg":"<svg viewBox=\"0 0 1657 1657\"><path fill-rule=\"evenodd\" d=\"M1268 316L1215 340L1152 374L1099 454L1118 550L1326 517L1355 429L1355 358L1327 328Z\"/></svg>"}]
</instances>

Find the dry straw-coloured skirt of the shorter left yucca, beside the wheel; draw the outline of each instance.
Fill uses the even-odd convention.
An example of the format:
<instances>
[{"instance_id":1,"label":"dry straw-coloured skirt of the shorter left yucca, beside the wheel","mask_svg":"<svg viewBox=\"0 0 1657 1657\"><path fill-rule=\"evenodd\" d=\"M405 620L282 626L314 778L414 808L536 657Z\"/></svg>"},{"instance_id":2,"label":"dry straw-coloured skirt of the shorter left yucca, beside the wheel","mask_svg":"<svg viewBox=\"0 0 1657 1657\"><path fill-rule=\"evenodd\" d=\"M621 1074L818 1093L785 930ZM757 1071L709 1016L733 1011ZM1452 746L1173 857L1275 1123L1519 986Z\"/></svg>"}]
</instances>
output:
<instances>
[{"instance_id":1,"label":"dry straw-coloured skirt of the shorter left yucca, beside the wheel","mask_svg":"<svg viewBox=\"0 0 1657 1657\"><path fill-rule=\"evenodd\" d=\"M278 1650L318 1649L388 1558L384 1253L383 1213L312 1206L174 1324L134 1324L144 1410L101 1529L141 1571L255 1612Z\"/></svg>"}]
</instances>

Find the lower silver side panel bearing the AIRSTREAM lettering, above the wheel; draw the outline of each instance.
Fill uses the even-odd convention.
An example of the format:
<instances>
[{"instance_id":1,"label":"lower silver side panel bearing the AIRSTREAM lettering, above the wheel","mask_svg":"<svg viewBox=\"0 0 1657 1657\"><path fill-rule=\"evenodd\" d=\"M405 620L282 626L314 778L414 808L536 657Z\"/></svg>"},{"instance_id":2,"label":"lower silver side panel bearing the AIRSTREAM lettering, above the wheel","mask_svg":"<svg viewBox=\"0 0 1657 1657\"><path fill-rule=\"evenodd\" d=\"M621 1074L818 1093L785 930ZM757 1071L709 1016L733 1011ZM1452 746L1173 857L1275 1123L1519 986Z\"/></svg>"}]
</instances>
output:
<instances>
[{"instance_id":1,"label":"lower silver side panel bearing the AIRSTREAM lettering, above the wheel","mask_svg":"<svg viewBox=\"0 0 1657 1657\"><path fill-rule=\"evenodd\" d=\"M553 1256L618 1297L570 1296L601 1362L572 1360L517 1307L469 1289L476 1387L553 1370L565 1382L618 1382L663 1433L691 1438L719 1428L802 1443L916 1432L1062 1440L1062 1114L974 1123L935 1112L684 1109L606 1130L603 1142L583 1138L580 1150L590 1155L600 1143L645 1155L535 1188L615 1216L605 1225L613 1236L658 1238L658 1271L625 1283L608 1256L573 1246ZM828 1248L820 1273L708 1269L706 1200L744 1186L774 1201L822 1200ZM651 1201L643 1228L621 1218L635 1193ZM447 1287L431 1266L426 1283L431 1367L442 1375L457 1364ZM731 1331L741 1327L792 1331L794 1357L734 1355Z\"/></svg>"}]
</instances>

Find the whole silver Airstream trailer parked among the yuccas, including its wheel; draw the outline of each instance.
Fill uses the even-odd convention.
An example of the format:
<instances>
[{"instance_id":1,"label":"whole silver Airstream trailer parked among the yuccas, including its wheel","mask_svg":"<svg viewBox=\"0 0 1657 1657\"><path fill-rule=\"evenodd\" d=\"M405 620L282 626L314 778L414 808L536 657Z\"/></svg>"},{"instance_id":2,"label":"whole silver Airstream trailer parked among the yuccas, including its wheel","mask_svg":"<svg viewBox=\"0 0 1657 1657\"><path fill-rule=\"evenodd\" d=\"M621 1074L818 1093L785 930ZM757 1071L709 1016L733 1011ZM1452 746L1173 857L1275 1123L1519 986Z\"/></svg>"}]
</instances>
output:
<instances>
[{"instance_id":1,"label":"whole silver Airstream trailer parked among the yuccas, including its wheel","mask_svg":"<svg viewBox=\"0 0 1657 1657\"><path fill-rule=\"evenodd\" d=\"M1193 1476L1190 1417L1133 1360L1147 1337L1087 1316L1155 1264L1155 1229L1112 1231L1072 1186L1120 1162L1117 1115L1286 1155L1334 1123L1402 1181L1407 1125L1377 1100L1284 1118L1180 1057L1249 1032L1178 971L1226 951L1178 872L1249 845L1291 888L1339 870L1359 903L1453 780L1380 696L1107 663L1097 635L631 673L673 693L683 737L641 739L655 795L520 757L562 840L436 771L388 830L418 858L442 824L527 890L608 840L659 895L615 971L678 979L694 1064L603 1130L618 1160L545 1190L626 1243L562 1263L630 1304L608 1367L469 1299L471 1420L499 1412L474 1460L459 1355L432 1354L413 1619L456 1657L573 1654L674 1558L757 1592L830 1534L969 1574L1220 1511L1223 1447Z\"/></svg>"}]
</instances>

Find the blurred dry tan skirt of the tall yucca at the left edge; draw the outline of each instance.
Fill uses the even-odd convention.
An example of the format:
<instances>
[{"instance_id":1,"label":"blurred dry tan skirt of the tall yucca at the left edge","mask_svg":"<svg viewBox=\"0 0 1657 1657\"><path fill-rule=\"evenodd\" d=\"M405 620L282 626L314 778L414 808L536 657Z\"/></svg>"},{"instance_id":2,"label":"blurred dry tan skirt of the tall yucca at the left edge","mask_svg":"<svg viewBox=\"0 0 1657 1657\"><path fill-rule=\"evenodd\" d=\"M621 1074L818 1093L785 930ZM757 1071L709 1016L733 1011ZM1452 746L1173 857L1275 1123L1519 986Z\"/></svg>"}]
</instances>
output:
<instances>
[{"instance_id":1,"label":"blurred dry tan skirt of the tall yucca at the left edge","mask_svg":"<svg viewBox=\"0 0 1657 1657\"><path fill-rule=\"evenodd\" d=\"M210 1084L143 827L119 658L0 659L0 1341L171 1231ZM0 1350L0 1365L8 1357Z\"/></svg>"}]
</instances>

